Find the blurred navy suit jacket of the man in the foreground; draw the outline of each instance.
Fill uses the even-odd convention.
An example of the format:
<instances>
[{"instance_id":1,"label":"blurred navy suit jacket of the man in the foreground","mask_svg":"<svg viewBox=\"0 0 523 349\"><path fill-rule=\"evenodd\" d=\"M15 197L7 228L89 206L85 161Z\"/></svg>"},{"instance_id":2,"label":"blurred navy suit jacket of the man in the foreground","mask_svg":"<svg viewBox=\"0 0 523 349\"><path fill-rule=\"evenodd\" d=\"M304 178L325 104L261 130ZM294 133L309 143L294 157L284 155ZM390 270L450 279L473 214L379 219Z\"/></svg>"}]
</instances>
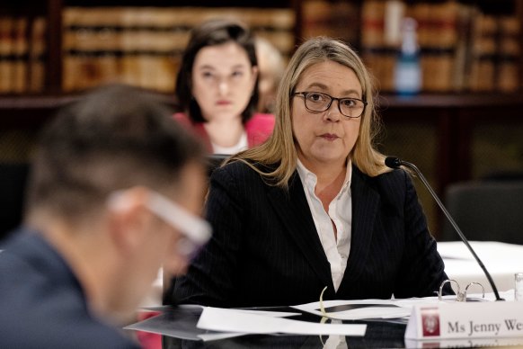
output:
<instances>
[{"instance_id":1,"label":"blurred navy suit jacket of the man in the foreground","mask_svg":"<svg viewBox=\"0 0 523 349\"><path fill-rule=\"evenodd\" d=\"M138 348L96 318L66 261L39 234L0 246L0 348Z\"/></svg>"}]
</instances>

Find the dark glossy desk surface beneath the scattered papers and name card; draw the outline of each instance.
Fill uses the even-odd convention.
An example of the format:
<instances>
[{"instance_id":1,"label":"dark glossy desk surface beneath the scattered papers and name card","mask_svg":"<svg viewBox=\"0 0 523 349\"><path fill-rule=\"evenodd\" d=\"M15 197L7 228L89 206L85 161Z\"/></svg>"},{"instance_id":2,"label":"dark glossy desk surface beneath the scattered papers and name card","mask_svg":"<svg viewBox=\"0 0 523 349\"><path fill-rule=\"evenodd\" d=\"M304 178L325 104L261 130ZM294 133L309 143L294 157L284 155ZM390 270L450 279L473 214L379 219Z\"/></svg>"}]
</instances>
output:
<instances>
[{"instance_id":1,"label":"dark glossy desk surface beneath the scattered papers and name card","mask_svg":"<svg viewBox=\"0 0 523 349\"><path fill-rule=\"evenodd\" d=\"M273 308L270 310L293 311L296 309ZM196 328L201 309L170 309L160 316L150 318L149 328L159 332L169 331L172 335L194 336L205 333ZM293 319L319 322L320 317L302 314ZM365 336L270 336L248 335L203 342L201 340L181 339L163 336L164 349L179 348L439 348L439 347L485 347L523 345L523 338L492 338L463 340L405 341L406 324L386 321L343 321L349 324L367 324ZM523 347L523 346L519 346Z\"/></svg>"}]
</instances>

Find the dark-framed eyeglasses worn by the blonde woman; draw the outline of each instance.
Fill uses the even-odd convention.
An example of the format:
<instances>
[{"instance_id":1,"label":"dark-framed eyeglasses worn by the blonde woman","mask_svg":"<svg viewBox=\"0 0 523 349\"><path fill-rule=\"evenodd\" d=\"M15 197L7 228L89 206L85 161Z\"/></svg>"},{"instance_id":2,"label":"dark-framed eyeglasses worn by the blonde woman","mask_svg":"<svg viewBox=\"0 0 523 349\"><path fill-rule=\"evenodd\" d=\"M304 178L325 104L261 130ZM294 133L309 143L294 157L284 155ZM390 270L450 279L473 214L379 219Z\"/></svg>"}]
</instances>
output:
<instances>
[{"instance_id":1,"label":"dark-framed eyeglasses worn by the blonde woman","mask_svg":"<svg viewBox=\"0 0 523 349\"><path fill-rule=\"evenodd\" d=\"M292 95L303 97L310 112L325 112L331 108L332 101L338 101L338 109L348 118L359 118L367 106L367 102L358 98L336 98L321 92L297 92Z\"/></svg>"}]
</instances>

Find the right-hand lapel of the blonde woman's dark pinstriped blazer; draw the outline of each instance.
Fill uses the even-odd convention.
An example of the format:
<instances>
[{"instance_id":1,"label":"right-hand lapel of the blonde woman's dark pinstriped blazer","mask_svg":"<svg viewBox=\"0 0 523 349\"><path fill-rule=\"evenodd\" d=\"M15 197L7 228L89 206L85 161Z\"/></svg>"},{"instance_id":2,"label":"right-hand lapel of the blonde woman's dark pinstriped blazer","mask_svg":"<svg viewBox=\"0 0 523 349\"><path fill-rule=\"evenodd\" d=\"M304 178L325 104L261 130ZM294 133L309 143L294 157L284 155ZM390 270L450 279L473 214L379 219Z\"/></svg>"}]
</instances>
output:
<instances>
[{"instance_id":1,"label":"right-hand lapel of the blonde woman's dark pinstriped blazer","mask_svg":"<svg viewBox=\"0 0 523 349\"><path fill-rule=\"evenodd\" d=\"M352 166L350 195L352 197L352 227L350 255L338 292L350 288L350 282L358 279L367 263L374 221L379 206L379 194L369 185L369 177Z\"/></svg>"}]
</instances>

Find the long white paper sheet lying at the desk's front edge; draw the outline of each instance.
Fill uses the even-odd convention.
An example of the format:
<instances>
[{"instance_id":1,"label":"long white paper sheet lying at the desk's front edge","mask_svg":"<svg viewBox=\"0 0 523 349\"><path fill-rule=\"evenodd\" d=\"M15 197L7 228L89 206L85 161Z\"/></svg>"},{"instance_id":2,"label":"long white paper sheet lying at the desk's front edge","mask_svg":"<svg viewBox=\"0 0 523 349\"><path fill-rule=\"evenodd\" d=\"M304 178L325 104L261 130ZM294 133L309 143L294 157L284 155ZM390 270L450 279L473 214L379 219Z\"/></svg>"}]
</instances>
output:
<instances>
[{"instance_id":1,"label":"long white paper sheet lying at the desk's front edge","mask_svg":"<svg viewBox=\"0 0 523 349\"><path fill-rule=\"evenodd\" d=\"M249 334L338 335L364 336L367 325L321 324L288 318L237 311L236 309L205 308L198 328Z\"/></svg>"}]
</instances>

